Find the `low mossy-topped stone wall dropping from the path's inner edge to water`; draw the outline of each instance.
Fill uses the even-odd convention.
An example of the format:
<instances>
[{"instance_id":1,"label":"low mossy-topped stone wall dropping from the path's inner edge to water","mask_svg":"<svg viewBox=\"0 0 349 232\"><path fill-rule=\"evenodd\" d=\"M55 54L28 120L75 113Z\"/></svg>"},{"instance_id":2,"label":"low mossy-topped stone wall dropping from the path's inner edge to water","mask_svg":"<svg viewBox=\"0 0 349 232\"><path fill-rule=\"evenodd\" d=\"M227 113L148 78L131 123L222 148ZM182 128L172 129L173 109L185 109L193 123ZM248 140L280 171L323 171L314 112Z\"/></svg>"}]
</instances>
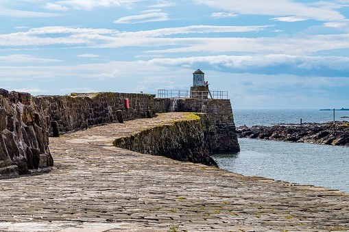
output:
<instances>
[{"instance_id":1,"label":"low mossy-topped stone wall dropping from the path's inner edge to water","mask_svg":"<svg viewBox=\"0 0 349 232\"><path fill-rule=\"evenodd\" d=\"M113 144L139 153L217 166L208 154L206 125L205 114L188 114L185 120L145 129L132 136L118 138Z\"/></svg>"}]
</instances>

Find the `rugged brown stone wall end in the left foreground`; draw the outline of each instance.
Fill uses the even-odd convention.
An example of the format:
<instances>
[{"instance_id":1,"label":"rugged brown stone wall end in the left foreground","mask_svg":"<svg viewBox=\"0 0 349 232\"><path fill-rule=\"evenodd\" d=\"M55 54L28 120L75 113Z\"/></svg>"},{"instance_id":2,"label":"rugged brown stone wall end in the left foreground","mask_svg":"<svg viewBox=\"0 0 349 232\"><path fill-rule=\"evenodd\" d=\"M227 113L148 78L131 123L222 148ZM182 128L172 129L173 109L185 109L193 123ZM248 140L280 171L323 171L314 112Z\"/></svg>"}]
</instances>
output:
<instances>
[{"instance_id":1,"label":"rugged brown stone wall end in the left foreground","mask_svg":"<svg viewBox=\"0 0 349 232\"><path fill-rule=\"evenodd\" d=\"M47 123L30 94L0 89L0 176L48 171Z\"/></svg>"}]
</instances>

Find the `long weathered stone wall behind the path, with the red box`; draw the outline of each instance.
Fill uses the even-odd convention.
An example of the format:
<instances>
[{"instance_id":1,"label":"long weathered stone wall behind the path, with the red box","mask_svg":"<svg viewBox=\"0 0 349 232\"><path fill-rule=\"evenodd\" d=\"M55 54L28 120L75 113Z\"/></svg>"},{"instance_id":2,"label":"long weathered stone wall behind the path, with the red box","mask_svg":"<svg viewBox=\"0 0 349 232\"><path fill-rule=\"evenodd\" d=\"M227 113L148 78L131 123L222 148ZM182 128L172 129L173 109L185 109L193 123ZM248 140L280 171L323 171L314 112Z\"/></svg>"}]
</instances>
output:
<instances>
[{"instance_id":1,"label":"long weathered stone wall behind the path, with the red box","mask_svg":"<svg viewBox=\"0 0 349 232\"><path fill-rule=\"evenodd\" d=\"M129 109L125 109L124 99L129 99ZM154 95L151 94L101 92L72 96L36 96L34 101L42 109L47 125L57 122L60 133L117 122L118 110L121 110L123 120L132 120L146 118L148 111L154 114L165 112L167 108L166 99L154 101ZM50 127L50 136L52 133Z\"/></svg>"}]
</instances>

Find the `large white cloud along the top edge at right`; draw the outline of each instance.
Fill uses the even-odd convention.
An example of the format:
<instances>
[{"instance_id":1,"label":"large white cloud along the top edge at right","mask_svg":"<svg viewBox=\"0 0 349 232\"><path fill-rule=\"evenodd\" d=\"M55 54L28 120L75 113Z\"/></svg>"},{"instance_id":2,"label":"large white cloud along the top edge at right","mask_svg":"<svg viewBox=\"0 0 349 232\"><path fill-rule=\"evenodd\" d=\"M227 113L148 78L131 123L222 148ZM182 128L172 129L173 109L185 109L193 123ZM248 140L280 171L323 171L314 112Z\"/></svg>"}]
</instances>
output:
<instances>
[{"instance_id":1,"label":"large white cloud along the top edge at right","mask_svg":"<svg viewBox=\"0 0 349 232\"><path fill-rule=\"evenodd\" d=\"M320 21L338 21L345 17L328 7L309 6L291 0L195 0L197 3L212 8L228 10L239 14L256 14L268 16L296 16L313 18Z\"/></svg>"}]
</instances>

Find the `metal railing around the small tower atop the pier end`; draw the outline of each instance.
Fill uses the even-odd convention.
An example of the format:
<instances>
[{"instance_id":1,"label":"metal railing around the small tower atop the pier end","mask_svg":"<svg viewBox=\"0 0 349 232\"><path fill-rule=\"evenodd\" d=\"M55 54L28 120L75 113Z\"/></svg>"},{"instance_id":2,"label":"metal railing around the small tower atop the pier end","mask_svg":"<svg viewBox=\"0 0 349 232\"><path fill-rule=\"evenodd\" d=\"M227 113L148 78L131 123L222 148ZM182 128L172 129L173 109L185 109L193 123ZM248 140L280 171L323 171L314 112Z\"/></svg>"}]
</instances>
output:
<instances>
[{"instance_id":1,"label":"metal railing around the small tower atop the pier end","mask_svg":"<svg viewBox=\"0 0 349 232\"><path fill-rule=\"evenodd\" d=\"M158 90L160 99L228 99L228 91Z\"/></svg>"}]
</instances>

